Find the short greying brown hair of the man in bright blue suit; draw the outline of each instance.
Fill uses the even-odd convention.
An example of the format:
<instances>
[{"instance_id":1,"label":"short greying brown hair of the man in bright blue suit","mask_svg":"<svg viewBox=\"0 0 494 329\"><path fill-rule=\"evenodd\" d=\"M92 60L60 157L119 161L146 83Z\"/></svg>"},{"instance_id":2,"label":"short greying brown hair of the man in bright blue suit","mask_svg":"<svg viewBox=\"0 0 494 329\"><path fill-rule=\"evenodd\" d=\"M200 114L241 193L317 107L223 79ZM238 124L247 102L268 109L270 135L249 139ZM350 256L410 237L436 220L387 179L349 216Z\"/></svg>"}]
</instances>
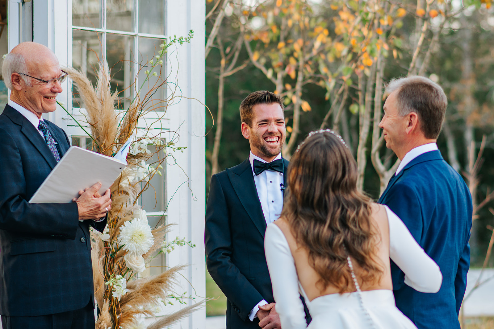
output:
<instances>
[{"instance_id":1,"label":"short greying brown hair of the man in bright blue suit","mask_svg":"<svg viewBox=\"0 0 494 329\"><path fill-rule=\"evenodd\" d=\"M417 113L420 130L424 136L437 139L448 107L448 98L443 88L431 79L412 75L392 79L386 85L385 95L395 91L399 115Z\"/></svg>"}]
</instances>

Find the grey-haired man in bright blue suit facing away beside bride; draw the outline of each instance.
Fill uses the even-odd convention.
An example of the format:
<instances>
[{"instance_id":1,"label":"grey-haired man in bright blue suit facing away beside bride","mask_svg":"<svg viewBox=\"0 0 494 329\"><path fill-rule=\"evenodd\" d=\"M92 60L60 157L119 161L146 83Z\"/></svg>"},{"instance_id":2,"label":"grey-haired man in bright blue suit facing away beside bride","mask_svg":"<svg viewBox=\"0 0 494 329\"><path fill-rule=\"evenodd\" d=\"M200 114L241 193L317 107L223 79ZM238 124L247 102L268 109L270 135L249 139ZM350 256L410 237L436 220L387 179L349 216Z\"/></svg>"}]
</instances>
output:
<instances>
[{"instance_id":1,"label":"grey-haired man in bright blue suit facing away beside bride","mask_svg":"<svg viewBox=\"0 0 494 329\"><path fill-rule=\"evenodd\" d=\"M448 100L438 84L421 76L392 80L386 94L379 127L401 163L378 202L403 220L443 274L439 292L417 292L392 262L396 306L419 329L459 329L470 264L472 198L436 145Z\"/></svg>"}]
</instances>

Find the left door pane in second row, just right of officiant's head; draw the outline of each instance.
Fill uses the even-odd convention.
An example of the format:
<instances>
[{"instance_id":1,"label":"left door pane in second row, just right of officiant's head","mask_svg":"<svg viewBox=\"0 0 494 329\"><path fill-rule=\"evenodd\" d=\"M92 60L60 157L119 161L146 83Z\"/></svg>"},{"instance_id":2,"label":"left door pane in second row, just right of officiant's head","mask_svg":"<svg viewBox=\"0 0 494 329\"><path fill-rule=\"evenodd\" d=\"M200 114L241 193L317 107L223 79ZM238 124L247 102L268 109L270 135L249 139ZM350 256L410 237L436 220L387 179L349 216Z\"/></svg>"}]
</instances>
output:
<instances>
[{"instance_id":1,"label":"left door pane in second row, just right of officiant's head","mask_svg":"<svg viewBox=\"0 0 494 329\"><path fill-rule=\"evenodd\" d=\"M72 30L72 67L85 73L93 84L96 83L99 61L102 58L101 40L101 33ZM75 86L72 87L72 92L72 106L83 107Z\"/></svg>"}]
</instances>

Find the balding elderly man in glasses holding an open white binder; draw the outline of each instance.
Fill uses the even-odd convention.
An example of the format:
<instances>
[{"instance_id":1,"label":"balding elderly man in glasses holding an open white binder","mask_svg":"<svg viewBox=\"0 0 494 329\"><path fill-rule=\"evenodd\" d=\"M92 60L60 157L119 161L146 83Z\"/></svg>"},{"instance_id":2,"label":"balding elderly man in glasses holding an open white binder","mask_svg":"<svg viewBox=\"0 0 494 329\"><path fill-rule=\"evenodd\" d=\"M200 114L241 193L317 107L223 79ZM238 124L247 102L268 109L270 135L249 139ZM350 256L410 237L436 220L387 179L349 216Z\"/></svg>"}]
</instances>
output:
<instances>
[{"instance_id":1,"label":"balding elderly man in glasses holding an open white binder","mask_svg":"<svg viewBox=\"0 0 494 329\"><path fill-rule=\"evenodd\" d=\"M110 190L96 183L72 203L29 200L70 147L42 118L67 73L55 54L23 42L4 58L10 100L0 115L0 315L3 329L93 329L89 226L102 231ZM77 173L74 173L77 175Z\"/></svg>"}]
</instances>

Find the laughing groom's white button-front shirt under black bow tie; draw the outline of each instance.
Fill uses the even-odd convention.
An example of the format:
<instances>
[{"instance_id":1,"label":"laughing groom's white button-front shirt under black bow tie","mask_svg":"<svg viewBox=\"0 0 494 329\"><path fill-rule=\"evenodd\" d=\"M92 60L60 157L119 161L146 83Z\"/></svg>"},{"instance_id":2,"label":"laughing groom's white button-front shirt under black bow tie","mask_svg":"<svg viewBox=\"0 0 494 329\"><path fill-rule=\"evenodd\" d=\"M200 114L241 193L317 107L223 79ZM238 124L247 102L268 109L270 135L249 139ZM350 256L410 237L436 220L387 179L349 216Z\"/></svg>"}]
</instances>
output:
<instances>
[{"instance_id":1,"label":"laughing groom's white button-front shirt under black bow tie","mask_svg":"<svg viewBox=\"0 0 494 329\"><path fill-rule=\"evenodd\" d=\"M283 173L273 170L265 170L259 175L254 174L254 159L267 162L250 152L249 161L254 176L255 188L266 224L272 223L280 217L283 208ZM281 153L274 160L281 159ZM273 161L274 161L273 160Z\"/></svg>"}]
</instances>

